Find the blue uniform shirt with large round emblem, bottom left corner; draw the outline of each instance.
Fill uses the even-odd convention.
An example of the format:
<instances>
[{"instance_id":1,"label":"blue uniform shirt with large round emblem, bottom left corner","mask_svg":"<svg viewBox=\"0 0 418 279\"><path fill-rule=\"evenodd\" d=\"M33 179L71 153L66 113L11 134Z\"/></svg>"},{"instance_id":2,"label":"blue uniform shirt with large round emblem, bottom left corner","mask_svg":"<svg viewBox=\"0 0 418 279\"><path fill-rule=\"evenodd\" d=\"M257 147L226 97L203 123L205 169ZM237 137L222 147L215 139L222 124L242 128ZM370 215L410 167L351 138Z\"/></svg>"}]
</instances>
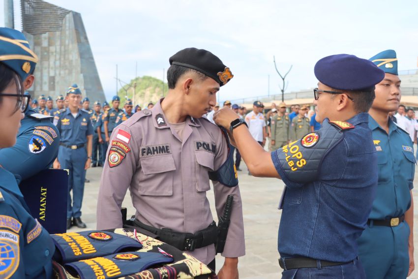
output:
<instances>
[{"instance_id":1,"label":"blue uniform shirt with large round emblem, bottom left corner","mask_svg":"<svg viewBox=\"0 0 418 279\"><path fill-rule=\"evenodd\" d=\"M29 213L12 173L0 168L0 277L52 279L55 245Z\"/></svg>"}]
</instances>

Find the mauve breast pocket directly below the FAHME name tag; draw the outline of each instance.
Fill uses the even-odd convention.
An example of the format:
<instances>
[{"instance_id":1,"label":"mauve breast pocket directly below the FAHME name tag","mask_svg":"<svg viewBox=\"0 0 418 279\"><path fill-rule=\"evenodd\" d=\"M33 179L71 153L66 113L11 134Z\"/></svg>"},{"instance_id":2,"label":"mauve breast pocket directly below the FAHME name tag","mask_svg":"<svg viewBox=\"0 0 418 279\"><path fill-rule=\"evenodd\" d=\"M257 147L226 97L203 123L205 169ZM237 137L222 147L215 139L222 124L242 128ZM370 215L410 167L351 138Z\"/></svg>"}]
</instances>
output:
<instances>
[{"instance_id":1,"label":"mauve breast pocket directly below the FAHME name tag","mask_svg":"<svg viewBox=\"0 0 418 279\"><path fill-rule=\"evenodd\" d=\"M173 155L142 158L138 193L149 196L173 195L175 170Z\"/></svg>"}]
</instances>

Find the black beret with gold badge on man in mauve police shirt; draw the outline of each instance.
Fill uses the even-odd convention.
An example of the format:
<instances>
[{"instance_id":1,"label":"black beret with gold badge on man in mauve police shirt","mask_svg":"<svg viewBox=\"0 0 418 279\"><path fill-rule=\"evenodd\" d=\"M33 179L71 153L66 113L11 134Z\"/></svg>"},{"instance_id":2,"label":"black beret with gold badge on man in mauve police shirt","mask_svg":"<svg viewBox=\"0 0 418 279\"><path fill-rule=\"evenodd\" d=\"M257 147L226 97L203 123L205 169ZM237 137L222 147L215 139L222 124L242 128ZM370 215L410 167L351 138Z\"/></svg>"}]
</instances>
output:
<instances>
[{"instance_id":1,"label":"black beret with gold badge on man in mauve police shirt","mask_svg":"<svg viewBox=\"0 0 418 279\"><path fill-rule=\"evenodd\" d=\"M225 85L234 77L230 69L211 52L194 47L185 48L170 57L170 65L178 65L199 71Z\"/></svg>"}]
</instances>

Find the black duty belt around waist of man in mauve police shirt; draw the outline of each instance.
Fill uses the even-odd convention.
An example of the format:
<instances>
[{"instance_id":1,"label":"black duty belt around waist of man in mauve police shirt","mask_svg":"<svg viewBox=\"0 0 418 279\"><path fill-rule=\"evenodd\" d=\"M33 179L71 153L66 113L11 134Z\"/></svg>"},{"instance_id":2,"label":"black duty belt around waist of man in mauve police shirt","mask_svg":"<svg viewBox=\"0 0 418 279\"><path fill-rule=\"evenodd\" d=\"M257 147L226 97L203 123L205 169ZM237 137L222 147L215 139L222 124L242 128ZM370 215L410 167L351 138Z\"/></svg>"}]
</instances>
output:
<instances>
[{"instance_id":1,"label":"black duty belt around waist of man in mauve police shirt","mask_svg":"<svg viewBox=\"0 0 418 279\"><path fill-rule=\"evenodd\" d=\"M157 229L135 219L134 224L158 236L158 239L182 251L193 251L214 244L218 235L215 221L196 233L182 233L168 228Z\"/></svg>"}]
</instances>

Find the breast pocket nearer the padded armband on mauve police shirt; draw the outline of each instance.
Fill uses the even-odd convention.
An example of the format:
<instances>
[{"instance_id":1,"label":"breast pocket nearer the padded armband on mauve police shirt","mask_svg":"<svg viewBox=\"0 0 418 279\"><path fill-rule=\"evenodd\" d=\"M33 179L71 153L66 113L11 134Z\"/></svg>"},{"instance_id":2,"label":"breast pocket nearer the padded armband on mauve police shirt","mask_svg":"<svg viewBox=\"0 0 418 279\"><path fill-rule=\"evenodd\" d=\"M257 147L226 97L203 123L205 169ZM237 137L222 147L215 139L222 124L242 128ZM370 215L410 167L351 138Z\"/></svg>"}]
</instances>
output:
<instances>
[{"instance_id":1,"label":"breast pocket nearer the padded armband on mauve police shirt","mask_svg":"<svg viewBox=\"0 0 418 279\"><path fill-rule=\"evenodd\" d=\"M209 152L195 152L196 154L196 190L206 192L210 190L209 172L213 171L214 154Z\"/></svg>"}]
</instances>

